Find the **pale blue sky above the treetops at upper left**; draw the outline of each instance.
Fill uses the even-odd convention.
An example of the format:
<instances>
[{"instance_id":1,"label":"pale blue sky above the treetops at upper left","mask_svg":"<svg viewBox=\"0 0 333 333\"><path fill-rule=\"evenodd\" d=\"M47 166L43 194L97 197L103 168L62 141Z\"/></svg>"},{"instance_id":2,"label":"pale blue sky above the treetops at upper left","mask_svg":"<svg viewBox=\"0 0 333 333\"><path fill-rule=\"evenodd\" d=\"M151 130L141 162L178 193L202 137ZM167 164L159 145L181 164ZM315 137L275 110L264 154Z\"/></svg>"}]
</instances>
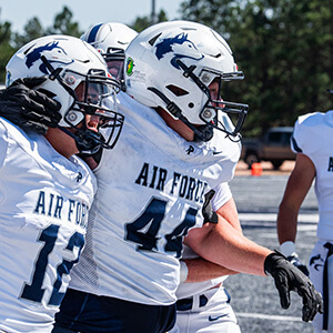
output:
<instances>
[{"instance_id":1,"label":"pale blue sky above the treetops at upper left","mask_svg":"<svg viewBox=\"0 0 333 333\"><path fill-rule=\"evenodd\" d=\"M182 0L155 0L155 11L163 9L170 20L179 18L178 10ZM2 0L0 2L0 22L9 21L12 31L22 32L24 24L38 17L41 24L50 27L56 14L67 6L73 13L73 20L82 30L100 22L122 22L130 24L138 16L151 13L152 0Z\"/></svg>"}]
</instances>

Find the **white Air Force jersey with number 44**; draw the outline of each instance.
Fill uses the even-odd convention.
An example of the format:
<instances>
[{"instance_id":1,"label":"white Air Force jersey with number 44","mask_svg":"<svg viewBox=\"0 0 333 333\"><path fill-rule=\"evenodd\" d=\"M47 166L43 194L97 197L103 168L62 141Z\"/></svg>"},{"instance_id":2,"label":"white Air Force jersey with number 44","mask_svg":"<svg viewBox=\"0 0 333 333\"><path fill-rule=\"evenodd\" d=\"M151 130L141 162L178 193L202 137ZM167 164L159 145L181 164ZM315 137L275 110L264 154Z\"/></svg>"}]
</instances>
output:
<instances>
[{"instance_id":1,"label":"white Air Force jersey with number 44","mask_svg":"<svg viewBox=\"0 0 333 333\"><path fill-rule=\"evenodd\" d=\"M202 225L204 193L232 179L240 143L215 131L188 142L163 119L127 94L117 147L95 169L98 194L87 246L70 286L144 304L172 304L182 240ZM91 220L91 221L90 221Z\"/></svg>"}]
</instances>

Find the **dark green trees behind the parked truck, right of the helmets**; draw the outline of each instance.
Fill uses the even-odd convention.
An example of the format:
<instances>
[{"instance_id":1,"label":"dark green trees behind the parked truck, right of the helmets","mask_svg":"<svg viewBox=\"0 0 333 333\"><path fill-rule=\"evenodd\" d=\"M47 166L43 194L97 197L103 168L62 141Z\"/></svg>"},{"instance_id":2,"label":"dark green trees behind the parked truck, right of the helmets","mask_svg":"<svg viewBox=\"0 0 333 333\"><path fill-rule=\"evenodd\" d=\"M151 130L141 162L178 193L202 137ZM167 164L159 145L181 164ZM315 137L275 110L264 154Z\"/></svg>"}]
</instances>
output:
<instances>
[{"instance_id":1,"label":"dark green trees behind the parked truck, right of the helmets","mask_svg":"<svg viewBox=\"0 0 333 333\"><path fill-rule=\"evenodd\" d=\"M331 107L332 7L331 0L182 2L182 17L219 31L245 73L224 91L225 99L250 104L245 134L293 125L297 115Z\"/></svg>"}]
</instances>

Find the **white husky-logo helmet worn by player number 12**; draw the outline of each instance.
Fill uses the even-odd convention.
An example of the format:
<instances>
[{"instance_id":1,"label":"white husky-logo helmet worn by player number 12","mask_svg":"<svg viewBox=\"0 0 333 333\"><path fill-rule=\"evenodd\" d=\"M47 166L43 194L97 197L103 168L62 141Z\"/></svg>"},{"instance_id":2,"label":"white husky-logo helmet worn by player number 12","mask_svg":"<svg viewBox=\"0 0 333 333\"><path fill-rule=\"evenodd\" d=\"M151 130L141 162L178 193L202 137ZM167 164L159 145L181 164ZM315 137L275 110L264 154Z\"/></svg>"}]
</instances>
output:
<instances>
[{"instance_id":1,"label":"white husky-logo helmet worn by player number 12","mask_svg":"<svg viewBox=\"0 0 333 333\"><path fill-rule=\"evenodd\" d=\"M123 115L114 111L119 82L90 44L69 36L38 38L19 49L6 69L7 85L19 78L48 77L38 89L61 103L59 128L74 138L81 152L115 144L123 124ZM109 138L87 129L85 114L98 114L100 127L111 127ZM67 128L74 128L74 134Z\"/></svg>"}]
</instances>

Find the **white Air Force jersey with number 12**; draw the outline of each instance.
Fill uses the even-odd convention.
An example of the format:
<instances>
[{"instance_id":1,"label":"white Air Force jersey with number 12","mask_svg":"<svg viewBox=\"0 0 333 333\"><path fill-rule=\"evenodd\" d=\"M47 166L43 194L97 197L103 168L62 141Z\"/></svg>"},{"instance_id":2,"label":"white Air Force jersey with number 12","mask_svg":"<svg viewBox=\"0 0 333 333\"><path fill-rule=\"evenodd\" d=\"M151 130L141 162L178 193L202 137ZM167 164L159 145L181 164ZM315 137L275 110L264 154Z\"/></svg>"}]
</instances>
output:
<instances>
[{"instance_id":1,"label":"white Air Force jersey with number 12","mask_svg":"<svg viewBox=\"0 0 333 333\"><path fill-rule=\"evenodd\" d=\"M95 186L79 158L0 118L0 331L51 332Z\"/></svg>"}]
</instances>

